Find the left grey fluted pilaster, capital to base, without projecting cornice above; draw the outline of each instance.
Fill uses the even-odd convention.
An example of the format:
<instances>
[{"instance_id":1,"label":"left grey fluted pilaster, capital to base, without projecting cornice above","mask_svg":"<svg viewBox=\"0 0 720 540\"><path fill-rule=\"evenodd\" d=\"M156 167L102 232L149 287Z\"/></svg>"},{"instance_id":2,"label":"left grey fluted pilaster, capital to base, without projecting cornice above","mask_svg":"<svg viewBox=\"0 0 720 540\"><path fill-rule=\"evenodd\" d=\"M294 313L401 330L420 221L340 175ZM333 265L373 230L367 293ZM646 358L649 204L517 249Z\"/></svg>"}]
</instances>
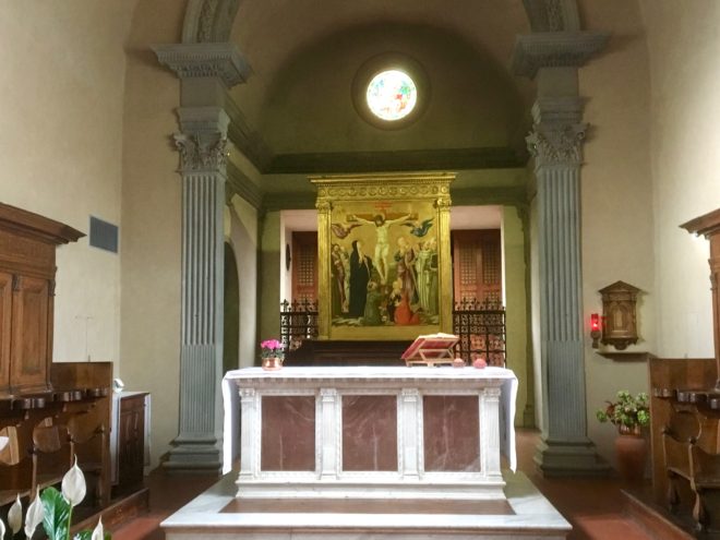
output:
<instances>
[{"instance_id":1,"label":"left grey fluted pilaster, capital to base, without projecting cornice above","mask_svg":"<svg viewBox=\"0 0 720 540\"><path fill-rule=\"evenodd\" d=\"M180 108L182 176L180 427L170 469L218 469L223 439L223 286L226 144L217 107Z\"/></svg>"}]
</instances>

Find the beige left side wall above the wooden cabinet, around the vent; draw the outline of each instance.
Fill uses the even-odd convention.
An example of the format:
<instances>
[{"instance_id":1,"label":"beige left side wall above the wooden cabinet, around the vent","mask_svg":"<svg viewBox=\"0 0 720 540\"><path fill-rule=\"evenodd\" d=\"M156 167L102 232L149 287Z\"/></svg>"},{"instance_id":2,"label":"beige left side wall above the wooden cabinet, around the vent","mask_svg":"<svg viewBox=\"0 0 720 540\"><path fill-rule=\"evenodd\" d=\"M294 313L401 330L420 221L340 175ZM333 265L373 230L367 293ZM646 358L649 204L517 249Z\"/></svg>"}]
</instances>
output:
<instances>
[{"instance_id":1,"label":"beige left side wall above the wooden cabinet, around the vent","mask_svg":"<svg viewBox=\"0 0 720 540\"><path fill-rule=\"evenodd\" d=\"M0 200L88 232L121 224L124 53L134 2L0 2ZM123 245L120 227L120 252ZM119 361L120 256L58 250L55 360ZM87 343L85 326L87 325Z\"/></svg>"}]
</instances>

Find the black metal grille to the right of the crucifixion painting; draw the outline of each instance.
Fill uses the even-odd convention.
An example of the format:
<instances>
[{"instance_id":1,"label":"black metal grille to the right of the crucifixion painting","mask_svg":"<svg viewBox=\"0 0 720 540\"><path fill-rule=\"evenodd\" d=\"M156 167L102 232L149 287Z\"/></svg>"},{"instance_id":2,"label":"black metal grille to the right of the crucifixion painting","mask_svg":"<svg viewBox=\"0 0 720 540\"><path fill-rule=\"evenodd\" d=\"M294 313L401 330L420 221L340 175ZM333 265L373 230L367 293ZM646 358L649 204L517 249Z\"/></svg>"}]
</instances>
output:
<instances>
[{"instance_id":1,"label":"black metal grille to the right of the crucifixion painting","mask_svg":"<svg viewBox=\"0 0 720 540\"><path fill-rule=\"evenodd\" d=\"M453 332L460 338L456 353L466 362L480 357L488 365L505 367L505 308L499 301L456 302Z\"/></svg>"}]
</instances>

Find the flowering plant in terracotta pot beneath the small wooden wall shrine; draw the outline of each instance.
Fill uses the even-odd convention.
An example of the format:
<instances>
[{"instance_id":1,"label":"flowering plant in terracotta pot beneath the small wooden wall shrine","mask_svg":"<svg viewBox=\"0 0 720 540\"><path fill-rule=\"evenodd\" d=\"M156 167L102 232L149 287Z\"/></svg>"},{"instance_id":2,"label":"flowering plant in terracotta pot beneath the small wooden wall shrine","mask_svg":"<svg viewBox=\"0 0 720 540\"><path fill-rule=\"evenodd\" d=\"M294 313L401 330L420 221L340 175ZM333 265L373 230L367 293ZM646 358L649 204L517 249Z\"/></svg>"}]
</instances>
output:
<instances>
[{"instance_id":1,"label":"flowering plant in terracotta pot beneath the small wooden wall shrine","mask_svg":"<svg viewBox=\"0 0 720 540\"><path fill-rule=\"evenodd\" d=\"M599 409L596 416L601 422L611 422L617 427L615 453L620 476L631 483L641 482L648 453L643 428L650 424L648 395L640 392L633 397L629 392L620 391L616 401L605 403L608 406Z\"/></svg>"}]
</instances>

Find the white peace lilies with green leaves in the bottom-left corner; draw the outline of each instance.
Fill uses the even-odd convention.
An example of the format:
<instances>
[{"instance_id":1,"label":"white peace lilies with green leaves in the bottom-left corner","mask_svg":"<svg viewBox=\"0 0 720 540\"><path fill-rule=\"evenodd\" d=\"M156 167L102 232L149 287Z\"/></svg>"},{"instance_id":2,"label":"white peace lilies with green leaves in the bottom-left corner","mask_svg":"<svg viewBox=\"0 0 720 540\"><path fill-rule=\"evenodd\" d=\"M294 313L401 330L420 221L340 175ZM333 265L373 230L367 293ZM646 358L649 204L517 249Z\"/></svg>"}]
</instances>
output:
<instances>
[{"instance_id":1,"label":"white peace lilies with green leaves in the bottom-left corner","mask_svg":"<svg viewBox=\"0 0 720 540\"><path fill-rule=\"evenodd\" d=\"M35 499L25 514L25 538L33 538L37 526L43 524L48 540L70 540L72 511L85 499L86 492L85 477L77 467L77 457L75 465L62 477L61 489L62 492L50 487L44 489L41 493L35 493ZM20 494L8 512L8 526L11 539L23 526L23 504ZM72 540L109 540L110 538L110 533L103 529L103 519L98 519L95 529L76 532ZM5 540L5 524L2 519L0 519L0 540Z\"/></svg>"}]
</instances>

